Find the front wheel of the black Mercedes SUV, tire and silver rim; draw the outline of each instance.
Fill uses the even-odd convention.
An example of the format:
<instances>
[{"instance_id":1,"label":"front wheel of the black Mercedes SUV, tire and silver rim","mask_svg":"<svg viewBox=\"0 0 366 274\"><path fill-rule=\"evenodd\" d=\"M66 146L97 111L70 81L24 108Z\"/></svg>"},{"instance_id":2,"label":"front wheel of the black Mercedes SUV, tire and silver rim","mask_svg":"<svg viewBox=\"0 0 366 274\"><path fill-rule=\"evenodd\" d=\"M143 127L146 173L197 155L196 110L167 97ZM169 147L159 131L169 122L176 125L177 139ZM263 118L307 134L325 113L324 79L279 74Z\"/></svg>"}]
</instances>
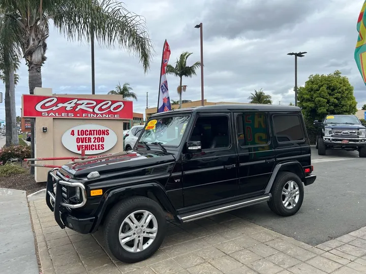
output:
<instances>
[{"instance_id":1,"label":"front wheel of the black Mercedes SUV, tire and silver rim","mask_svg":"<svg viewBox=\"0 0 366 274\"><path fill-rule=\"evenodd\" d=\"M120 261L139 262L153 255L163 242L166 219L155 201L135 196L110 210L104 238L108 250Z\"/></svg>"}]
</instances>

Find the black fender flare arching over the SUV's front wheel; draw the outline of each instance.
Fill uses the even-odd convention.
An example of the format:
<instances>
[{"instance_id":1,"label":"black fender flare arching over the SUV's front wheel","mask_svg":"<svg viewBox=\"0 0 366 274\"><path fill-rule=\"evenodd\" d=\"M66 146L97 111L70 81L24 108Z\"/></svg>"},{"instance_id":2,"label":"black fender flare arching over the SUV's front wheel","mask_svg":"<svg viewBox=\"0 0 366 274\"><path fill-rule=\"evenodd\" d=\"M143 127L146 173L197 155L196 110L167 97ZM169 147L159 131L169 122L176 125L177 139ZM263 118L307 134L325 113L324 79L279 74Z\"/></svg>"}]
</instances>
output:
<instances>
[{"instance_id":1,"label":"black fender flare arching over the SUV's front wheel","mask_svg":"<svg viewBox=\"0 0 366 274\"><path fill-rule=\"evenodd\" d=\"M118 188L111 189L110 191L106 192L105 195L103 196L103 198L100 202L101 210L99 210L98 216L96 216L96 222L94 224L94 227L93 227L91 233L94 233L98 229L102 219L104 219L105 215L108 214L108 212L106 212L108 206L118 202L120 200L120 194L127 193L127 192L152 193L153 196L156 197L158 202L163 206L163 208L165 208L166 211L170 212L174 216L177 215L177 212L176 212L175 208L173 207L173 204L170 201L170 198L166 194L165 189L163 188L163 186L161 184L156 183L156 182L149 182L146 184L121 186ZM147 196L147 197L149 197L149 196Z\"/></svg>"}]
</instances>

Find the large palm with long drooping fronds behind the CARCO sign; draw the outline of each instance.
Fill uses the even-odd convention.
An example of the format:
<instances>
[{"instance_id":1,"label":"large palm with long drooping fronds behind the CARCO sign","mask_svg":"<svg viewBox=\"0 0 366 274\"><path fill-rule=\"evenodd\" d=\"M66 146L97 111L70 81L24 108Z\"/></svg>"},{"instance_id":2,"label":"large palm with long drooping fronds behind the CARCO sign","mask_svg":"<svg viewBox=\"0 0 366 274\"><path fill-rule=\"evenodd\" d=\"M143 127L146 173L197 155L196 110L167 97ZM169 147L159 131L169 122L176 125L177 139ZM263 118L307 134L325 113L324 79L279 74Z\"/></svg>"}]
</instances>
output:
<instances>
[{"instance_id":1,"label":"large palm with long drooping fronds behind the CARCO sign","mask_svg":"<svg viewBox=\"0 0 366 274\"><path fill-rule=\"evenodd\" d=\"M153 55L145 21L126 10L117 0L3 0L0 29L13 32L14 43L28 66L29 93L42 87L41 67L46 61L49 24L67 39L128 49L137 55L147 72ZM93 33L92 33L93 32ZM2 33L0 33L0 36ZM0 44L0 47L6 45ZM32 157L34 157L34 119L31 119ZM34 169L31 169L34 173Z\"/></svg>"}]
</instances>

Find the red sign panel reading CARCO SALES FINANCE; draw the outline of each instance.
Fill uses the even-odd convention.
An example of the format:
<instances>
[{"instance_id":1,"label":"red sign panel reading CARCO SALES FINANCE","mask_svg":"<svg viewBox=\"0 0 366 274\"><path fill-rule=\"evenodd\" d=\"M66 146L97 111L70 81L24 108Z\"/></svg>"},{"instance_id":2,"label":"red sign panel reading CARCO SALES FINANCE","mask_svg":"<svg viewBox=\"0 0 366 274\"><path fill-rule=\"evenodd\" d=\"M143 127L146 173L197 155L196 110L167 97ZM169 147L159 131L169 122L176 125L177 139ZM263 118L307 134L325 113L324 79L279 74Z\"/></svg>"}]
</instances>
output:
<instances>
[{"instance_id":1,"label":"red sign panel reading CARCO SALES FINANCE","mask_svg":"<svg viewBox=\"0 0 366 274\"><path fill-rule=\"evenodd\" d=\"M22 117L133 119L132 101L22 95Z\"/></svg>"}]
</instances>

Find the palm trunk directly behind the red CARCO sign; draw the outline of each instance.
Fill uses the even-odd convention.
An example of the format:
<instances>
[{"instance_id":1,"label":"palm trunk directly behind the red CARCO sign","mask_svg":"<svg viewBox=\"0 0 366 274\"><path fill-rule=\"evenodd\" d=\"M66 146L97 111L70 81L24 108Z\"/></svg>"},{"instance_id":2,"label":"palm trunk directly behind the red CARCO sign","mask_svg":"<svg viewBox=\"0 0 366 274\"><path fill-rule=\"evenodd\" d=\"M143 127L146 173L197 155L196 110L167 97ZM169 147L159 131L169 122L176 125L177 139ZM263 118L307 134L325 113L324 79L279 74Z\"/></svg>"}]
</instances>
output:
<instances>
[{"instance_id":1,"label":"palm trunk directly behind the red CARCO sign","mask_svg":"<svg viewBox=\"0 0 366 274\"><path fill-rule=\"evenodd\" d=\"M35 87L42 87L42 74L41 74L41 65L38 64L29 64L28 65L28 85L29 85L29 94L34 94ZM31 147L32 147L32 157L35 158L35 119L31 118ZM31 174L34 174L34 166L31 166Z\"/></svg>"}]
</instances>

